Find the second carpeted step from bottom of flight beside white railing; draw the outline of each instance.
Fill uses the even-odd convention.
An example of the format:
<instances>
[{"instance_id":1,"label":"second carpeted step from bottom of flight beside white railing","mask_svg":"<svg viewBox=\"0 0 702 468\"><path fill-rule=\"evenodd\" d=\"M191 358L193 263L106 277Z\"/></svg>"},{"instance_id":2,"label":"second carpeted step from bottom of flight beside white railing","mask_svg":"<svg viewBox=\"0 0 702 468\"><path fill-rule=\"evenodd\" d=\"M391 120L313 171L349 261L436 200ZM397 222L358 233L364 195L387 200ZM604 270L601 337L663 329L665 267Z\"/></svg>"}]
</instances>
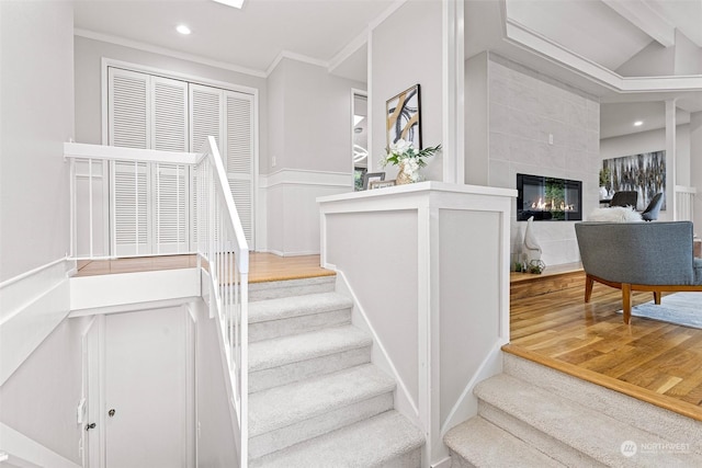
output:
<instances>
[{"instance_id":1,"label":"second carpeted step from bottom of flight beside white railing","mask_svg":"<svg viewBox=\"0 0 702 468\"><path fill-rule=\"evenodd\" d=\"M393 409L395 381L372 364L252 393L251 458Z\"/></svg>"}]
</instances>

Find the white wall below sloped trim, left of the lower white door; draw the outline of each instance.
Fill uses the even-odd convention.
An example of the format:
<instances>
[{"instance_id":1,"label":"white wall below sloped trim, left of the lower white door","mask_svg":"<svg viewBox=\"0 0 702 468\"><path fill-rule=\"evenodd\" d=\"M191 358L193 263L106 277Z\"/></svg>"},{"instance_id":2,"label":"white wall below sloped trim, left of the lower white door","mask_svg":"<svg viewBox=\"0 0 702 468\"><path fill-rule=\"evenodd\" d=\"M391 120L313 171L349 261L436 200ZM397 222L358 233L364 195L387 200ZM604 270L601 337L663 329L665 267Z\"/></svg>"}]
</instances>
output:
<instances>
[{"instance_id":1,"label":"white wall below sloped trim, left of the lower white door","mask_svg":"<svg viewBox=\"0 0 702 468\"><path fill-rule=\"evenodd\" d=\"M86 324L84 318L64 320L0 387L0 421L76 464Z\"/></svg>"}]
</instances>

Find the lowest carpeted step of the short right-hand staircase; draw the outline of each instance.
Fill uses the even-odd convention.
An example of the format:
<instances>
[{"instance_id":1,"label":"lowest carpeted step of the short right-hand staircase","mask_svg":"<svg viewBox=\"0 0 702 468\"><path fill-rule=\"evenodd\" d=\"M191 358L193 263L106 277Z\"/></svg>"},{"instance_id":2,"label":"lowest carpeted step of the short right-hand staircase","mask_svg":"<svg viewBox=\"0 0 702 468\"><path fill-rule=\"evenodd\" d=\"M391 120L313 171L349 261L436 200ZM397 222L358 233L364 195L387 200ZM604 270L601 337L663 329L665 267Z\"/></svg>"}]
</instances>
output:
<instances>
[{"instance_id":1,"label":"lowest carpeted step of the short right-hand staircase","mask_svg":"<svg viewBox=\"0 0 702 468\"><path fill-rule=\"evenodd\" d=\"M451 467L564 467L512 434L474 416L446 433Z\"/></svg>"}]
</instances>

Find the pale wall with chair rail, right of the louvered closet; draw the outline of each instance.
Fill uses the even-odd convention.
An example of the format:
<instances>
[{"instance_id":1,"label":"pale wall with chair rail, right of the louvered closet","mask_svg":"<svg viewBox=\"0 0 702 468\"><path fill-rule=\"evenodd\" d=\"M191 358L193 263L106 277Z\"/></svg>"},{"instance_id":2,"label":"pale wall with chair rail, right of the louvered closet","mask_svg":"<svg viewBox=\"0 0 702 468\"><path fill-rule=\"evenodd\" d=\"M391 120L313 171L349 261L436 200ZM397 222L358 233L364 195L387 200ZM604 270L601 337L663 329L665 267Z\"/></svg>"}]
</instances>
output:
<instances>
[{"instance_id":1,"label":"pale wall with chair rail, right of the louvered closet","mask_svg":"<svg viewBox=\"0 0 702 468\"><path fill-rule=\"evenodd\" d=\"M270 75L269 148L276 165L261 183L268 205L268 251L319 253L316 198L353 190L354 88L365 85L287 58Z\"/></svg>"}]
</instances>

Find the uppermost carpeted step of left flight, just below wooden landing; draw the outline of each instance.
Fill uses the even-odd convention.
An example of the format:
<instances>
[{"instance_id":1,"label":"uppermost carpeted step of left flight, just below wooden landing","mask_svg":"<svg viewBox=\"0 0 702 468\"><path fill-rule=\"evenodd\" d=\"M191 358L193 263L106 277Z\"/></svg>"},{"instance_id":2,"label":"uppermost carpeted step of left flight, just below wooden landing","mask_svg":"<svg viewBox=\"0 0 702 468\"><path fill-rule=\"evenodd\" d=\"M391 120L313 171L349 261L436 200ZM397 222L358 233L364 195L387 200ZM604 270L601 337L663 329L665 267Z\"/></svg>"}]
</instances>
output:
<instances>
[{"instance_id":1,"label":"uppermost carpeted step of left flight, just below wooden landing","mask_svg":"<svg viewBox=\"0 0 702 468\"><path fill-rule=\"evenodd\" d=\"M353 301L337 293L267 299L249 304L249 342L351 323Z\"/></svg>"}]
</instances>

